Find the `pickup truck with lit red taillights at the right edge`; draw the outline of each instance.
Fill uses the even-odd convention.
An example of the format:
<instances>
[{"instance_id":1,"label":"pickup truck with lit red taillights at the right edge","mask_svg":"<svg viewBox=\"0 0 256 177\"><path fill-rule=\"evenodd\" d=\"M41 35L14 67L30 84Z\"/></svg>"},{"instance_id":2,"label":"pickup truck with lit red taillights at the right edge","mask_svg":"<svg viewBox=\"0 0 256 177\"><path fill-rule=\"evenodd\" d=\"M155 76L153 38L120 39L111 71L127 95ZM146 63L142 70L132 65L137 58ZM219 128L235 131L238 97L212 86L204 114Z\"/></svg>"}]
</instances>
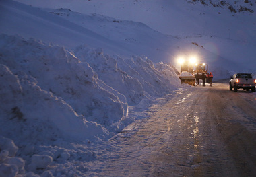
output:
<instances>
[{"instance_id":1,"label":"pickup truck with lit red taillights at the right edge","mask_svg":"<svg viewBox=\"0 0 256 177\"><path fill-rule=\"evenodd\" d=\"M255 92L256 79L250 73L236 73L229 81L229 89L237 92L238 89Z\"/></svg>"}]
</instances>

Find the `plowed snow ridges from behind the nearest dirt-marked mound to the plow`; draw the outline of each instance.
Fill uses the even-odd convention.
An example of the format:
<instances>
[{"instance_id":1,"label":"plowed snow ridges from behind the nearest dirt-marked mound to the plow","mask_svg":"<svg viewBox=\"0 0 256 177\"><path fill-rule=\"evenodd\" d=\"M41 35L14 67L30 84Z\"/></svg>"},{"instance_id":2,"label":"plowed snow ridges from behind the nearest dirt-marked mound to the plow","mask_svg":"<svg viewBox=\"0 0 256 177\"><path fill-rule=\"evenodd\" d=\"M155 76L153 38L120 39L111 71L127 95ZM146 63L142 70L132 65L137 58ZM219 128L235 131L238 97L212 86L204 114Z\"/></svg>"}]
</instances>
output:
<instances>
[{"instance_id":1,"label":"plowed snow ridges from behind the nearest dirt-marked mound to the plow","mask_svg":"<svg viewBox=\"0 0 256 177\"><path fill-rule=\"evenodd\" d=\"M27 79L46 95L65 100L77 114L105 126L127 116L128 104L168 94L179 85L168 65L158 63L156 68L165 67L158 70L150 59L114 59L102 49L78 47L77 58L61 46L1 35L0 51L1 64L19 79Z\"/></svg>"}]
</instances>

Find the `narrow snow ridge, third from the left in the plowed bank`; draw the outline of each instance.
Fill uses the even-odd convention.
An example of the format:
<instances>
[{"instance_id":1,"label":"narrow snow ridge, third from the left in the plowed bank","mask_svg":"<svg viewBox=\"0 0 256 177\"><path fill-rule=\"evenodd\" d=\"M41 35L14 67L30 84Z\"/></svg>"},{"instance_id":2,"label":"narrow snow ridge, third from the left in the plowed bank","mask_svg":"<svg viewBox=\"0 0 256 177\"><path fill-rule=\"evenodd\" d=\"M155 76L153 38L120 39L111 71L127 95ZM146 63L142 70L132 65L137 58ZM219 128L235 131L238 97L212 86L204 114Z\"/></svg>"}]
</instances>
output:
<instances>
[{"instance_id":1,"label":"narrow snow ridge, third from the left in the plowed bank","mask_svg":"<svg viewBox=\"0 0 256 177\"><path fill-rule=\"evenodd\" d=\"M123 98L120 95L121 100L127 100L129 105L138 104L142 100L144 95L141 83L119 69L117 60L104 55L102 49L90 50L85 46L79 46L74 52L81 61L89 63L99 79L125 96Z\"/></svg>"}]
</instances>

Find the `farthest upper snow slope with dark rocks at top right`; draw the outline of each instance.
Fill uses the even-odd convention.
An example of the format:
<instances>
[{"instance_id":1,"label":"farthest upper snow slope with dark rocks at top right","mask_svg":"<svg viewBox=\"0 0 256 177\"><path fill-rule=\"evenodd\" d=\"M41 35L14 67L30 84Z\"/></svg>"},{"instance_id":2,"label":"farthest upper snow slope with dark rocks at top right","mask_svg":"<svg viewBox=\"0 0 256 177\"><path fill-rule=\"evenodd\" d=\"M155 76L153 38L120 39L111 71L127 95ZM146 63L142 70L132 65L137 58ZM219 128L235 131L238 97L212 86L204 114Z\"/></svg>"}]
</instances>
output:
<instances>
[{"instance_id":1,"label":"farthest upper snow slope with dark rocks at top right","mask_svg":"<svg viewBox=\"0 0 256 177\"><path fill-rule=\"evenodd\" d=\"M187 36L188 34L201 33L203 30L205 32L206 30L210 30L211 32L215 31L214 34L218 34L218 32L223 33L224 28L232 28L233 25L239 25L234 24L234 22L237 20L239 21L239 19L236 18L241 18L243 16L245 16L247 21L249 21L249 24L253 24L252 20L253 16L255 17L256 12L256 3L252 0L18 1L28 5L33 5L35 7L50 7L54 9L68 8L72 11L85 14L96 13L115 17L120 20L143 22L144 24L147 24L151 28L154 28L155 30L158 30L164 34L180 34L181 36L183 36L183 34ZM230 11L230 9L234 9L236 13L234 11ZM254 12L251 13L250 11ZM230 17L232 15L235 17ZM215 20L213 18L215 18ZM228 26L226 26L226 22L228 22ZM222 24L219 30L216 28L216 24Z\"/></svg>"}]
</instances>

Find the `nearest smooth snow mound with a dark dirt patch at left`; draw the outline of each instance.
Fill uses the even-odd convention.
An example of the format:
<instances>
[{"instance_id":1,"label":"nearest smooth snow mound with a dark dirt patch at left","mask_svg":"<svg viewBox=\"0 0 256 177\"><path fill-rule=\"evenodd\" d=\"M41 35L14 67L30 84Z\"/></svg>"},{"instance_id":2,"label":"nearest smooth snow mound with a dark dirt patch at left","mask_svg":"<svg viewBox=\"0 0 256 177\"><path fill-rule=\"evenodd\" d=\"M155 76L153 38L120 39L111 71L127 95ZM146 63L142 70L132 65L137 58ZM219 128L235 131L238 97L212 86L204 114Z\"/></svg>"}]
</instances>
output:
<instances>
[{"instance_id":1,"label":"nearest smooth snow mound with a dark dirt patch at left","mask_svg":"<svg viewBox=\"0 0 256 177\"><path fill-rule=\"evenodd\" d=\"M100 125L78 116L64 100L42 90L28 75L19 77L0 65L2 135L18 134L37 141L55 136L75 141L104 133Z\"/></svg>"}]
</instances>

